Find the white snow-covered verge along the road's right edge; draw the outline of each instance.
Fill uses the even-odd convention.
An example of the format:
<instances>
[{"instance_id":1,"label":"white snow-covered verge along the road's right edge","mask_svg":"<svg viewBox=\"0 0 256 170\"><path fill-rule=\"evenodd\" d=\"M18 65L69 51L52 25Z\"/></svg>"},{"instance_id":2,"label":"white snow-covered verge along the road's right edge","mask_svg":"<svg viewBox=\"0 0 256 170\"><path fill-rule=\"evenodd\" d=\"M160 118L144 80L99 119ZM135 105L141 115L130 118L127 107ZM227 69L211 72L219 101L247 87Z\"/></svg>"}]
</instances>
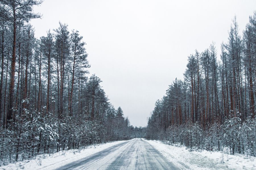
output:
<instances>
[{"instance_id":1,"label":"white snow-covered verge along the road's right edge","mask_svg":"<svg viewBox=\"0 0 256 170\"><path fill-rule=\"evenodd\" d=\"M189 151L185 147L166 145L160 141L145 141L181 169L256 169L255 157L206 150L202 152Z\"/></svg>"}]
</instances>

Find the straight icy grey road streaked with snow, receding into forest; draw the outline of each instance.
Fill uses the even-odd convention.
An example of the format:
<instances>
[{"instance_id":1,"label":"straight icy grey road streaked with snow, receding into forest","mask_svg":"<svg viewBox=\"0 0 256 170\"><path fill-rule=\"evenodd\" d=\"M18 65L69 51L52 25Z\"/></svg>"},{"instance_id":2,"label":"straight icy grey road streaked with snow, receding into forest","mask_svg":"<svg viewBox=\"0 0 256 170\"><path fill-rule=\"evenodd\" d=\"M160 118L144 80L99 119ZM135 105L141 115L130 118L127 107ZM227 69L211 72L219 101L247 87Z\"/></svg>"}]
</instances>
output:
<instances>
[{"instance_id":1,"label":"straight icy grey road streaked with snow, receding into forest","mask_svg":"<svg viewBox=\"0 0 256 170\"><path fill-rule=\"evenodd\" d=\"M57 170L178 169L148 142L136 138L120 143Z\"/></svg>"}]
</instances>

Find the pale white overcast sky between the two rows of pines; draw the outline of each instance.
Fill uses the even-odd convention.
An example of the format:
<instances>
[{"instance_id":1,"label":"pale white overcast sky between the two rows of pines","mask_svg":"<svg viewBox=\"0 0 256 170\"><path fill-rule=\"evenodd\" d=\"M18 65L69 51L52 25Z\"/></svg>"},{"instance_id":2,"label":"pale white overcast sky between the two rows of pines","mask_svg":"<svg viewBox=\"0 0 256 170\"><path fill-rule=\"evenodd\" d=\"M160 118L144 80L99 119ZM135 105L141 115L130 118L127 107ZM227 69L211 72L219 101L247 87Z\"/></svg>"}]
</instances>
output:
<instances>
[{"instance_id":1,"label":"pale white overcast sky between the two rows of pines","mask_svg":"<svg viewBox=\"0 0 256 170\"><path fill-rule=\"evenodd\" d=\"M234 15L240 33L256 10L255 0L45 0L32 20L36 37L67 23L87 43L90 75L133 126L146 126L168 85L183 79L187 56L227 42ZM219 56L219 53L218 53Z\"/></svg>"}]
</instances>

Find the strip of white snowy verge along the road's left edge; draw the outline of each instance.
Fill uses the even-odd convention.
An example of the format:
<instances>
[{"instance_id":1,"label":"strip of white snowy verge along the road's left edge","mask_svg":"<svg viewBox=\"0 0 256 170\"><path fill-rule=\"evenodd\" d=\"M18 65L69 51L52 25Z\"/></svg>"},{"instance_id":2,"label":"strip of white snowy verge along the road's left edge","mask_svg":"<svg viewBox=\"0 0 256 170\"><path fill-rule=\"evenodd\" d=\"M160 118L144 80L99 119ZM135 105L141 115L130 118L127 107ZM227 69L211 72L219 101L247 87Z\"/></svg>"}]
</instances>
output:
<instances>
[{"instance_id":1,"label":"strip of white snowy verge along the road's left edge","mask_svg":"<svg viewBox=\"0 0 256 170\"><path fill-rule=\"evenodd\" d=\"M126 141L115 141L105 144L90 145L85 149L80 150L63 150L54 154L42 154L36 156L36 159L33 160L24 160L16 163L11 163L5 166L0 167L4 170L19 170L19 169L32 169L32 170L50 170L56 169L68 163L80 160L86 156L100 152L106 148L109 148L113 145L123 143Z\"/></svg>"}]
</instances>

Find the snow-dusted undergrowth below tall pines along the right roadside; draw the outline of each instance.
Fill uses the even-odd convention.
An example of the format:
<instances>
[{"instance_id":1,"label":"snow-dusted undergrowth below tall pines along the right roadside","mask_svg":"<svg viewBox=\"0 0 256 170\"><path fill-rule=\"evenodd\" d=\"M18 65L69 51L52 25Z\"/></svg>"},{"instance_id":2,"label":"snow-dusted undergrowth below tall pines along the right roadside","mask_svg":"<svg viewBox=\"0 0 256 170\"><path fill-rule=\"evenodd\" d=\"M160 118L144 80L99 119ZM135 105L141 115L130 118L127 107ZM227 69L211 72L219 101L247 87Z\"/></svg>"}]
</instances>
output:
<instances>
[{"instance_id":1,"label":"snow-dusted undergrowth below tall pines along the right roadside","mask_svg":"<svg viewBox=\"0 0 256 170\"><path fill-rule=\"evenodd\" d=\"M163 138L159 136L163 134ZM214 124L203 128L198 122L186 122L181 125L171 125L156 138L168 145L185 145L192 150L206 149L224 151L228 148L230 154L247 154L255 156L256 119L250 117L241 122L239 117L227 119L223 124Z\"/></svg>"}]
</instances>

